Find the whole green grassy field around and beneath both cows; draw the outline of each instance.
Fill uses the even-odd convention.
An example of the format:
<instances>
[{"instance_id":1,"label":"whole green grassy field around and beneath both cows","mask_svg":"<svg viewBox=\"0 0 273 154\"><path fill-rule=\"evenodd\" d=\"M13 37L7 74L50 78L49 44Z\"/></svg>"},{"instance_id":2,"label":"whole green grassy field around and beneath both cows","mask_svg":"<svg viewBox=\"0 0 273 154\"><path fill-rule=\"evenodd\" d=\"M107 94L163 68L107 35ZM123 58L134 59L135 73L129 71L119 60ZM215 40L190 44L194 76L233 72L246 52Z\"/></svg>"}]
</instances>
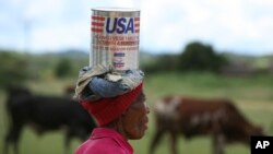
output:
<instances>
[{"instance_id":1,"label":"whole green grassy field around and beneath both cows","mask_svg":"<svg viewBox=\"0 0 273 154\"><path fill-rule=\"evenodd\" d=\"M35 93L46 95L63 95L63 87L74 84L73 80L48 80L38 83L29 83ZM150 125L146 135L142 140L130 141L135 154L149 154L149 145L154 132L153 104L162 96L169 94L190 95L195 97L227 97L234 100L236 106L253 123L261 125L265 131L273 121L273 75L257 75L251 78L216 76L207 73L162 73L146 74L145 93L151 108ZM0 153L3 149L3 138L7 131L8 119L4 111L5 95L0 92ZM70 152L80 144L79 140L72 142ZM164 137L156 154L169 154L168 137ZM179 153L185 154L211 154L211 140L200 137L192 140L179 139ZM63 134L49 132L41 137L36 135L27 127L24 129L20 144L21 154L62 154ZM241 144L227 145L227 154L249 154L249 147Z\"/></svg>"}]
</instances>

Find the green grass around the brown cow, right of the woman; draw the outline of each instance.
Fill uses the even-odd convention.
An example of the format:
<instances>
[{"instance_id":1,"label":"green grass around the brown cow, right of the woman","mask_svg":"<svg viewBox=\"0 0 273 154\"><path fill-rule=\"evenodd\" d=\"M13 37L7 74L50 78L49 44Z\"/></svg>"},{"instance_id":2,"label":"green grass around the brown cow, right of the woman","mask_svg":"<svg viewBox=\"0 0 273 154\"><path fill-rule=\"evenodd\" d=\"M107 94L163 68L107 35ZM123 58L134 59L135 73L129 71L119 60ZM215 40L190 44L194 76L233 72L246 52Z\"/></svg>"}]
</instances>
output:
<instances>
[{"instance_id":1,"label":"green grass around the brown cow, right of the woman","mask_svg":"<svg viewBox=\"0 0 273 154\"><path fill-rule=\"evenodd\" d=\"M153 138L153 104L165 95L189 95L195 97L227 97L234 100L242 114L253 123L270 131L273 121L273 76L227 78L210 73L162 73L146 74L145 90L151 108L150 129L141 141L131 141L136 154L149 152ZM271 130L272 131L272 130ZM156 150L156 154L169 153L169 137L166 134ZM179 138L179 153L211 154L210 138L192 140ZM249 154L249 147L242 144L227 145L227 154Z\"/></svg>"}]
</instances>

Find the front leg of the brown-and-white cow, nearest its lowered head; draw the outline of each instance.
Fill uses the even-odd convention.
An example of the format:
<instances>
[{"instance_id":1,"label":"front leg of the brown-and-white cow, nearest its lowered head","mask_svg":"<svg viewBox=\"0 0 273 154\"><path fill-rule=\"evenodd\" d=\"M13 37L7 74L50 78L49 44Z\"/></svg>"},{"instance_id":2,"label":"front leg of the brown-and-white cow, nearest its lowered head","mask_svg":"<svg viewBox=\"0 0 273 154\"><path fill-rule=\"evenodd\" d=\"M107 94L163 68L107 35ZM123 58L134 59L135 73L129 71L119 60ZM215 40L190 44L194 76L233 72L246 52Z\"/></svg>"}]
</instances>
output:
<instances>
[{"instance_id":1,"label":"front leg of the brown-and-white cow, nearest its lowered head","mask_svg":"<svg viewBox=\"0 0 273 154\"><path fill-rule=\"evenodd\" d=\"M213 135L213 154L224 154L225 138L222 133Z\"/></svg>"}]
</instances>

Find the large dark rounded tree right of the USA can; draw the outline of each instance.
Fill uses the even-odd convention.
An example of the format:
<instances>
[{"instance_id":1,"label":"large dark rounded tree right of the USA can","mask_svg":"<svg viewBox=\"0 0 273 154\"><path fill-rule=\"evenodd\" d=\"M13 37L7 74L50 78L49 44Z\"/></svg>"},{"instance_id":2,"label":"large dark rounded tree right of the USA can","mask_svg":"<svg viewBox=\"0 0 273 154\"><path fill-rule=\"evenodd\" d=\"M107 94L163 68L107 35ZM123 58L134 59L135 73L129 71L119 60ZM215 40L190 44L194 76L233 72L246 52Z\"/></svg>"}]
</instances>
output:
<instances>
[{"instance_id":1,"label":"large dark rounded tree right of the USA can","mask_svg":"<svg viewBox=\"0 0 273 154\"><path fill-rule=\"evenodd\" d=\"M183 71L218 72L226 61L212 46L193 42L188 44L181 54L180 68Z\"/></svg>"}]
</instances>

